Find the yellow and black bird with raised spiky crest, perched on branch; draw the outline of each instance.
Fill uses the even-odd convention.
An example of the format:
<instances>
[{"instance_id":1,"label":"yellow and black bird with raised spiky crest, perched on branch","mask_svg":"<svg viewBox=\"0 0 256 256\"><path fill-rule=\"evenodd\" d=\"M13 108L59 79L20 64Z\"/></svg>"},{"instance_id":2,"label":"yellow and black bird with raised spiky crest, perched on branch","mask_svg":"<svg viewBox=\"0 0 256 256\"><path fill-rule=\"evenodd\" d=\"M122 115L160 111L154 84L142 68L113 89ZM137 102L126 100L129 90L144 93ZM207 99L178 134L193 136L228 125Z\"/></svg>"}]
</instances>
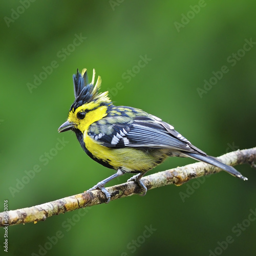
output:
<instances>
[{"instance_id":1,"label":"yellow and black bird with raised spiky crest, perched on branch","mask_svg":"<svg viewBox=\"0 0 256 256\"><path fill-rule=\"evenodd\" d=\"M145 195L147 188L142 176L162 163L167 157L190 157L217 166L227 173L247 180L235 168L208 156L178 133L174 126L143 110L130 106L116 106L108 91L99 93L101 78L94 85L89 82L87 69L73 75L75 101L70 107L68 120L59 133L72 130L82 149L96 162L114 169L115 174L98 182L87 191L100 189L110 202L111 194L105 184L123 174L136 174L127 181L136 182Z\"/></svg>"}]
</instances>

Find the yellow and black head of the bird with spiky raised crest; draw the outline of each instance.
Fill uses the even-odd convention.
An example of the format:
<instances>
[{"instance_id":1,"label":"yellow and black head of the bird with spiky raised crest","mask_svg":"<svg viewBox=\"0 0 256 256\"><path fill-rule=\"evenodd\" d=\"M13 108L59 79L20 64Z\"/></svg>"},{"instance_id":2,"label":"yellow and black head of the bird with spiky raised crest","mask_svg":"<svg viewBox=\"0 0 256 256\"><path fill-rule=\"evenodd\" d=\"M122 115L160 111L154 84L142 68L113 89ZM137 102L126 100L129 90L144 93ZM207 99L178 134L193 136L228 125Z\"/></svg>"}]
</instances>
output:
<instances>
[{"instance_id":1,"label":"yellow and black head of the bird with spiky raised crest","mask_svg":"<svg viewBox=\"0 0 256 256\"><path fill-rule=\"evenodd\" d=\"M94 79L95 70L93 70L91 83L89 83L86 69L83 69L81 74L77 70L73 75L75 101L70 107L67 122L59 127L59 133L75 129L83 133L90 124L106 116L108 105L111 104L109 92L98 93L101 78L98 76L95 86Z\"/></svg>"}]
</instances>

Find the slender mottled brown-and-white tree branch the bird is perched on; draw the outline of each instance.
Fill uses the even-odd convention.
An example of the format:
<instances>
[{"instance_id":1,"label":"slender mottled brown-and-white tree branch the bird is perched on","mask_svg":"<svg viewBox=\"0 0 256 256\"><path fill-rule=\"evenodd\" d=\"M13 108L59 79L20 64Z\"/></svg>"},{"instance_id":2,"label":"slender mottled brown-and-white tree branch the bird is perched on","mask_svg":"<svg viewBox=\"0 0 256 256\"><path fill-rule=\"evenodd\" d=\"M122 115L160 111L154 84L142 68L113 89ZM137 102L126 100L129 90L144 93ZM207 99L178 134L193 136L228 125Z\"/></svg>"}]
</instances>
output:
<instances>
[{"instance_id":1,"label":"slender mottled brown-and-white tree branch the bird is perched on","mask_svg":"<svg viewBox=\"0 0 256 256\"><path fill-rule=\"evenodd\" d=\"M255 167L254 161L256 160L256 147L249 148L248 150L230 152L218 158L227 165L234 166L249 163ZM220 170L220 168L215 166L197 162L148 175L142 178L142 182L145 184L147 189L153 189L170 184L182 185L190 179L218 173ZM140 194L140 187L135 182L126 182L106 189L111 193L111 200ZM1 212L0 227L6 226L7 224L17 225L20 223L36 223L37 221L45 221L53 215L63 214L67 211L72 211L78 208L102 204L105 201L105 196L101 191L94 190L58 199L49 203L23 209L10 210L7 212L7 218L5 218L4 212ZM8 223L6 223L5 220L7 220Z\"/></svg>"}]
</instances>

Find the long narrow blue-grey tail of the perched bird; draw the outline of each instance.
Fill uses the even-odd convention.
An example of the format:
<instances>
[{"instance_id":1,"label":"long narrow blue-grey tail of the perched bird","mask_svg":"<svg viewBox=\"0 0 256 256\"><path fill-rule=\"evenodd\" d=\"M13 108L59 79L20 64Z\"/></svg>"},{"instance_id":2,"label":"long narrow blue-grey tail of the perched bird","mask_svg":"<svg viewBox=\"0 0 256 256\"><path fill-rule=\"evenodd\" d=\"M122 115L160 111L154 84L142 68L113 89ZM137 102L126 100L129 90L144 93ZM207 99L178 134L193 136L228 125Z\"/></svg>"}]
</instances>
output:
<instances>
[{"instance_id":1,"label":"long narrow blue-grey tail of the perched bird","mask_svg":"<svg viewBox=\"0 0 256 256\"><path fill-rule=\"evenodd\" d=\"M204 156L204 155L199 155L199 154L195 154L195 153L190 153L190 152L184 152L184 155L194 158L196 160L205 162L205 163L209 163L211 165L214 165L216 167L222 168L223 170L225 170L227 173L236 176L242 180L248 180L246 177L244 177L241 173L239 173L235 168L233 168L232 166L226 165L222 162L220 162L217 158L215 157L211 157L211 156Z\"/></svg>"}]
</instances>

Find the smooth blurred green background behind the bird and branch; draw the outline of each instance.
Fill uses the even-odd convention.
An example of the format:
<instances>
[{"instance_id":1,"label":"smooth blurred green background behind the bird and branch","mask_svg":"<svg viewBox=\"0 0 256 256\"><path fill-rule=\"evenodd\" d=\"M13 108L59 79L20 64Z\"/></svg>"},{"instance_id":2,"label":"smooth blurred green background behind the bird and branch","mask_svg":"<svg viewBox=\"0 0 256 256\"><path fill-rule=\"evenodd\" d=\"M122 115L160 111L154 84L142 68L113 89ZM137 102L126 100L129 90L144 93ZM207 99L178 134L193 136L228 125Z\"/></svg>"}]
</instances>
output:
<instances>
[{"instance_id":1,"label":"smooth blurred green background behind the bird and branch","mask_svg":"<svg viewBox=\"0 0 256 256\"><path fill-rule=\"evenodd\" d=\"M255 8L249 0L3 2L1 211L4 200L10 210L29 207L113 174L82 151L75 134L57 133L74 100L77 68L87 68L90 79L95 68L115 104L159 116L209 155L255 146ZM245 39L252 41L246 52ZM141 56L148 60L138 68ZM228 72L200 97L204 79L222 66ZM59 139L68 143L56 150ZM192 162L169 158L151 174ZM41 171L26 180L35 165ZM221 172L202 184L9 227L8 255L255 255L256 221L248 217L256 208L256 174L249 165L237 169L247 182ZM22 179L27 184L13 190Z\"/></svg>"}]
</instances>

